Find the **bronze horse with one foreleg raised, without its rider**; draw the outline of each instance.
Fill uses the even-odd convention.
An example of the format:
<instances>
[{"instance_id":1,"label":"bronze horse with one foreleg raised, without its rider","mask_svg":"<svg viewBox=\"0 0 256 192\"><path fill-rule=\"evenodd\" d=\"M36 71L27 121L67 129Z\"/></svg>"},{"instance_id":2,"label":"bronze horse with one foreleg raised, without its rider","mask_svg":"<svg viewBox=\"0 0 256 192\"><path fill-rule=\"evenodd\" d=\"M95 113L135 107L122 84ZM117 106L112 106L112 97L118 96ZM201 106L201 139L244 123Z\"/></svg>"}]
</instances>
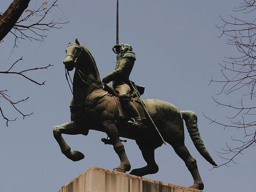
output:
<instances>
[{"instance_id":1,"label":"bronze horse with one foreleg raised, without its rider","mask_svg":"<svg viewBox=\"0 0 256 192\"><path fill-rule=\"evenodd\" d=\"M103 89L100 74L91 52L80 44L68 44L66 59L63 61L67 71L75 68L73 77L73 98L70 104L71 121L54 126L53 135L60 145L61 152L72 161L79 161L84 155L79 151L70 151L70 147L61 134L87 135L89 129L105 132L109 139L102 138L105 144L114 146L120 159L120 165L115 171L128 172L131 164L125 154L120 137L132 139L139 146L147 165L133 169L129 174L144 176L158 172L154 151L163 144L152 122L147 118L143 124L146 130L132 129L127 126L127 119L118 115L118 104L115 97ZM106 86L105 86L106 87ZM196 159L194 159L184 144L185 120L190 137L199 153L212 165L217 166L206 150L197 128L197 116L192 111L180 111L169 102L155 99L143 99L146 109L156 124L164 140L169 143L178 156L185 162L191 173L194 184L190 188L203 190L204 184L199 175Z\"/></svg>"}]
</instances>

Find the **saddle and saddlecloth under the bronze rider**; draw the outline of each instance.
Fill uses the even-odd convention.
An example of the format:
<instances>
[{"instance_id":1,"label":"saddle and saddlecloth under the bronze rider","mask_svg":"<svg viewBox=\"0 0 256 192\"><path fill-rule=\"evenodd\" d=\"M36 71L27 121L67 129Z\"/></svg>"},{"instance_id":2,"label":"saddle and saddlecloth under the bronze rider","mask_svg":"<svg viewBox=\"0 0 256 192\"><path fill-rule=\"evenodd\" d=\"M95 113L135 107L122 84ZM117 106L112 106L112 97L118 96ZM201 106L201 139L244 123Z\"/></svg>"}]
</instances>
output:
<instances>
[{"instance_id":1,"label":"saddle and saddlecloth under the bronze rider","mask_svg":"<svg viewBox=\"0 0 256 192\"><path fill-rule=\"evenodd\" d=\"M140 93L140 95L142 95L145 91L145 87L139 86L139 85L135 85L135 86L136 86L136 89L138 90L138 92ZM114 88L110 84L105 84L104 90L107 91L109 94L113 95L113 97L115 98L116 105L118 108L119 118L130 119L130 116L128 115L128 113L125 110L123 110L123 108L121 106L121 102L119 100L119 97L117 96ZM144 111L140 101L138 100L138 98L135 96L134 93L132 94L132 104L137 108L141 119L146 119L145 111Z\"/></svg>"}]
</instances>

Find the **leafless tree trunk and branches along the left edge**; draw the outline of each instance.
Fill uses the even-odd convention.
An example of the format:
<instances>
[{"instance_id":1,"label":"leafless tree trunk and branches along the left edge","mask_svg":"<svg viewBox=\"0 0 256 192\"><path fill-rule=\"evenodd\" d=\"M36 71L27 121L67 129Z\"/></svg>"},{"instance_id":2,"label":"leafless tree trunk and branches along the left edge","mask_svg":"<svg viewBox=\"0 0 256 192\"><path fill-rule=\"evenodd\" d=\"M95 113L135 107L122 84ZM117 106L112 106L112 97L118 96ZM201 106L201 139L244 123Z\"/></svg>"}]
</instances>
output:
<instances>
[{"instance_id":1,"label":"leafless tree trunk and branches along the left edge","mask_svg":"<svg viewBox=\"0 0 256 192\"><path fill-rule=\"evenodd\" d=\"M52 13L53 8L58 8L60 10L57 4L57 0L55 0L53 3L49 5L47 2L44 2L37 9L34 8L33 10L27 9L29 2L30 0L13 0L12 4L4 13L0 12L1 13L0 14L0 43L4 42L3 38L9 32L13 34L15 37L14 47L15 46L17 47L17 42L19 42L20 39L29 39L30 41L33 41L33 40L44 41L44 38L47 36L46 32L50 28L60 29L63 24L66 24L69 22L69 21L63 22L61 18L57 18ZM64 15L62 11L61 13ZM51 14L54 15L55 18L52 18L50 16ZM59 21L55 21L56 19ZM34 20L36 20L36 22L34 22ZM28 69L21 70L20 72L13 71L13 68L20 60L23 60L22 57L19 60L15 61L8 70L0 71L0 74L8 74L8 75L15 74L18 76L22 76L23 78L37 85L44 85L45 81L40 83L35 79L28 77L27 73L25 72L29 72L29 71L34 72L40 69L48 69L52 65L49 64L46 67L28 68ZM26 116L30 116L33 114L33 113L29 113L29 114L23 113L18 108L18 105L17 105L20 102L27 101L29 97L27 97L26 99L21 99L13 102L11 97L7 95L6 92L7 90L0 91L0 104L1 104L1 101L9 102L12 105L12 108L14 108L15 111L17 111L20 115L23 116L23 119ZM3 106L2 108L0 106L0 111L1 111L2 117L6 120L7 126L8 126L8 122L15 121L17 119L17 118L10 119L9 117L7 117L4 114Z\"/></svg>"}]
</instances>

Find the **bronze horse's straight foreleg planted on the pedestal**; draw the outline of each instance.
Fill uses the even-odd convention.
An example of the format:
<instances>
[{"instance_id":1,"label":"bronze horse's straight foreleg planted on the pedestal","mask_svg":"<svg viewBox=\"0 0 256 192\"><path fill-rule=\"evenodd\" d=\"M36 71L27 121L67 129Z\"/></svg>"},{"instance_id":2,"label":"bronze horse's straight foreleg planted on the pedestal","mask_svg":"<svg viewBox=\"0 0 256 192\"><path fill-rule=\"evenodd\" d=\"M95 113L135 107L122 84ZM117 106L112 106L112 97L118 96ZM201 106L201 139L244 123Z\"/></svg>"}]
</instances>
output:
<instances>
[{"instance_id":1,"label":"bronze horse's straight foreleg planted on the pedestal","mask_svg":"<svg viewBox=\"0 0 256 192\"><path fill-rule=\"evenodd\" d=\"M102 125L103 125L103 129L108 134L108 137L114 146L114 150L115 150L116 154L118 155L120 162L121 162L120 165L114 169L114 171L124 172L124 173L126 171L130 171L131 164L125 154L124 145L121 143L121 141L119 139L116 125L114 125L110 121L104 121L102 123Z\"/></svg>"}]
</instances>

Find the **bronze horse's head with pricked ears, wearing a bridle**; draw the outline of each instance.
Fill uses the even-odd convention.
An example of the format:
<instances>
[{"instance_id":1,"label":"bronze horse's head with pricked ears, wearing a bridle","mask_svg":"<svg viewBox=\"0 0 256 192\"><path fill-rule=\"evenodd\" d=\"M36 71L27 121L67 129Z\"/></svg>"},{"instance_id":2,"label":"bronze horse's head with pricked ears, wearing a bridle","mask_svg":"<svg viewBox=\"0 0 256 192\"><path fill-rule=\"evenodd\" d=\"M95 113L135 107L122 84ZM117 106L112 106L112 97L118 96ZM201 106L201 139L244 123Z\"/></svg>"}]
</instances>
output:
<instances>
[{"instance_id":1,"label":"bronze horse's head with pricked ears, wearing a bridle","mask_svg":"<svg viewBox=\"0 0 256 192\"><path fill-rule=\"evenodd\" d=\"M63 64L68 71L72 71L74 69L74 67L76 66L76 62L80 59L79 56L81 52L82 47L77 38L74 44L68 44L68 47L66 49L67 56L66 59L63 61Z\"/></svg>"}]
</instances>

